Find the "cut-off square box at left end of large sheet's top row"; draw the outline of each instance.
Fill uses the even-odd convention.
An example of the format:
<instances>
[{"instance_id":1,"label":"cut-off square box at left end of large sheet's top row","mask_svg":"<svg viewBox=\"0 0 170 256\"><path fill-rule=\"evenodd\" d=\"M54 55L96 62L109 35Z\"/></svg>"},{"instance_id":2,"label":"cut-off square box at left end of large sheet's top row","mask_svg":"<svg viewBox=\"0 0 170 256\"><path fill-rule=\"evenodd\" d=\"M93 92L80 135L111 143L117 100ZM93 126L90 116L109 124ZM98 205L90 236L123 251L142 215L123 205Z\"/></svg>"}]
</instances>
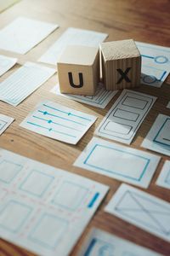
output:
<instances>
[{"instance_id":1,"label":"cut-off square box at left end of large sheet's top row","mask_svg":"<svg viewBox=\"0 0 170 256\"><path fill-rule=\"evenodd\" d=\"M11 183L21 169L22 166L18 164L8 160L2 160L0 162L0 182Z\"/></svg>"}]
</instances>

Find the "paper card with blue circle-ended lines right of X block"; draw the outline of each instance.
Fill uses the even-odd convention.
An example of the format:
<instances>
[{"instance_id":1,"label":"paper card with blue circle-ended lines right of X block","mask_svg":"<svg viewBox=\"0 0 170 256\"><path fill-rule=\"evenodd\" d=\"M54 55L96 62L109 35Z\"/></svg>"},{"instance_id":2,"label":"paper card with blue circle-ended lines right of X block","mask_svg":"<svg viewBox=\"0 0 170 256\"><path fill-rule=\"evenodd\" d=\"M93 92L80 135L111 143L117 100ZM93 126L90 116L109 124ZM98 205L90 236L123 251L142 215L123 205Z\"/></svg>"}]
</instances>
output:
<instances>
[{"instance_id":1,"label":"paper card with blue circle-ended lines right of X block","mask_svg":"<svg viewBox=\"0 0 170 256\"><path fill-rule=\"evenodd\" d=\"M142 56L141 84L161 87L170 72L170 48L135 42Z\"/></svg>"}]
</instances>

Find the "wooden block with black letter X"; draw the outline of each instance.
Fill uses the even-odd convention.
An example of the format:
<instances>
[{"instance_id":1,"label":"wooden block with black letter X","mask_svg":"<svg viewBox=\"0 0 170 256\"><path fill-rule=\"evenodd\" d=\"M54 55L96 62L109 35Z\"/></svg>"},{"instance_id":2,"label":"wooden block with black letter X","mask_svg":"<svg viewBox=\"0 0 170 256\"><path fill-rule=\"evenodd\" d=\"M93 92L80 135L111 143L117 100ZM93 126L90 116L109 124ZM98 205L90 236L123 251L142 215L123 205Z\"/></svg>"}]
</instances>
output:
<instances>
[{"instance_id":1,"label":"wooden block with black letter X","mask_svg":"<svg viewBox=\"0 0 170 256\"><path fill-rule=\"evenodd\" d=\"M139 86L141 56L133 39L102 43L100 54L106 90Z\"/></svg>"}]
</instances>

